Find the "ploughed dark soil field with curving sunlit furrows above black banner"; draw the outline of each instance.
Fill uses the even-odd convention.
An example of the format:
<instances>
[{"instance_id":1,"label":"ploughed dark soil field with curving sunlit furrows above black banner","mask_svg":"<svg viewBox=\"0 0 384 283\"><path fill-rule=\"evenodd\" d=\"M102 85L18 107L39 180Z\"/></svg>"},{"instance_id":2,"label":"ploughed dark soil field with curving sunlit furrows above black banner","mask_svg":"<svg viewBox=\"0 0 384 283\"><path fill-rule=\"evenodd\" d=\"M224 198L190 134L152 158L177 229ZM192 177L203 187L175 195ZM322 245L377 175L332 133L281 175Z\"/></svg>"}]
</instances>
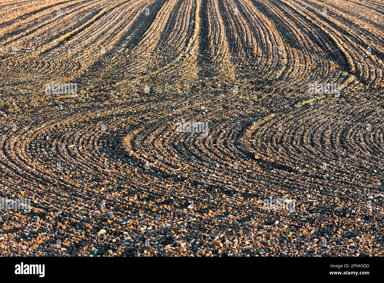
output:
<instances>
[{"instance_id":1,"label":"ploughed dark soil field with curving sunlit furrows above black banner","mask_svg":"<svg viewBox=\"0 0 384 283\"><path fill-rule=\"evenodd\" d=\"M383 42L382 0L0 0L0 255L383 255Z\"/></svg>"}]
</instances>

